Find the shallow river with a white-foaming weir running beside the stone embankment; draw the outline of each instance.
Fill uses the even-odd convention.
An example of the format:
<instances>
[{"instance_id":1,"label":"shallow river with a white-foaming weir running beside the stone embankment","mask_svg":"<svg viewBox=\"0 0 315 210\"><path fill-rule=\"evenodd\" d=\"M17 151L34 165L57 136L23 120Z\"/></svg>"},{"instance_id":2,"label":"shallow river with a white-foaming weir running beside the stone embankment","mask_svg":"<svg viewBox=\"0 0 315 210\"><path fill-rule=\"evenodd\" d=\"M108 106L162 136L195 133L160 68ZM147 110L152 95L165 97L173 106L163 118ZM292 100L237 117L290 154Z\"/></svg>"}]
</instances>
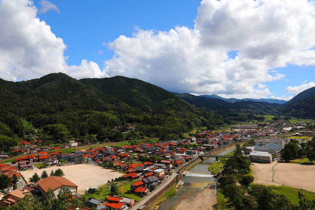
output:
<instances>
[{"instance_id":1,"label":"shallow river with a white-foaming weir running beside the stone embankment","mask_svg":"<svg viewBox=\"0 0 315 210\"><path fill-rule=\"evenodd\" d=\"M225 155L232 150L235 150L235 148L224 150L217 153L217 155ZM208 157L204 161L189 169L189 173L183 177L182 181L184 184L177 188L178 191L173 196L159 203L159 209L171 210L182 200L187 199L188 202L192 201L196 194L200 190L203 190L205 186L215 183L216 179L211 176L210 172L208 171L208 167L212 162L215 162L215 157Z\"/></svg>"}]
</instances>

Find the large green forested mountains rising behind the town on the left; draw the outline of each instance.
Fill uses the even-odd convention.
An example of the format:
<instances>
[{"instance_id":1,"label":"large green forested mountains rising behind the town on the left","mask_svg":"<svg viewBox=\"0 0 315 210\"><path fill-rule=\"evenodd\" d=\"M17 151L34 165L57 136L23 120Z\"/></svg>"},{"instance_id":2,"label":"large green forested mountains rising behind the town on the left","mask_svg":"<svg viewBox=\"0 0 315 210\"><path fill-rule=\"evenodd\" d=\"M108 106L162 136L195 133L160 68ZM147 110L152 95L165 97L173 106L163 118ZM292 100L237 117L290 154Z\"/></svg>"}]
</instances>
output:
<instances>
[{"instance_id":1,"label":"large green forested mountains rising behind the town on the left","mask_svg":"<svg viewBox=\"0 0 315 210\"><path fill-rule=\"evenodd\" d=\"M180 138L193 128L230 123L163 88L127 77L78 81L53 73L22 82L0 79L0 90L0 135L14 139L34 132L24 125L28 122L40 128L37 135L45 143L79 136L84 143L92 134L118 141L168 134ZM122 133L127 122L135 128L128 135ZM1 147L4 142L0 138Z\"/></svg>"}]
</instances>

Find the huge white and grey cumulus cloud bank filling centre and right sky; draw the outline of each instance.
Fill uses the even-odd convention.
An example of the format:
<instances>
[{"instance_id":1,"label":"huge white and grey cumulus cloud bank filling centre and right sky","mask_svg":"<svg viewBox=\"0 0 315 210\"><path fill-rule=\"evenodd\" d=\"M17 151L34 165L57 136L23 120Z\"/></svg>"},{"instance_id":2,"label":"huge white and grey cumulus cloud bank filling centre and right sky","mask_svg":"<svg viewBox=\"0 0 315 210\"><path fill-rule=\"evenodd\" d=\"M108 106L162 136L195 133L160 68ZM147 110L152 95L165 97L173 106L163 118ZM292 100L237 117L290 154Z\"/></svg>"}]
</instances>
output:
<instances>
[{"instance_id":1,"label":"huge white and grey cumulus cloud bank filling centre and right sky","mask_svg":"<svg viewBox=\"0 0 315 210\"><path fill-rule=\"evenodd\" d=\"M265 97L263 84L284 78L273 68L315 64L314 17L307 0L204 0L193 29L136 28L107 43L104 70L178 92Z\"/></svg>"}]
</instances>

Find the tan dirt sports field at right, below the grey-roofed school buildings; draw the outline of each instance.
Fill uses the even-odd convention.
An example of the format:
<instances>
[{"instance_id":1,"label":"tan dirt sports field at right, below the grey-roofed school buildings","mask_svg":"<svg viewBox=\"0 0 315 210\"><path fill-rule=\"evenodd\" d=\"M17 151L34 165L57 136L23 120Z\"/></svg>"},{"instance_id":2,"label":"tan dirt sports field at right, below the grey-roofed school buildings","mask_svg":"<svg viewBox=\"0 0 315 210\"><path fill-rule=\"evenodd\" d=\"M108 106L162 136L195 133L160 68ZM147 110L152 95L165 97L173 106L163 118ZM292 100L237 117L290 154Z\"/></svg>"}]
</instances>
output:
<instances>
[{"instance_id":1,"label":"tan dirt sports field at right, below the grey-roofed school buildings","mask_svg":"<svg viewBox=\"0 0 315 210\"><path fill-rule=\"evenodd\" d=\"M272 181L272 166L270 164L255 163L253 167L254 183L281 185L276 182L285 182L287 186L303 187L304 190L315 192L315 166L291 163L278 163L274 168L275 175Z\"/></svg>"}]
</instances>

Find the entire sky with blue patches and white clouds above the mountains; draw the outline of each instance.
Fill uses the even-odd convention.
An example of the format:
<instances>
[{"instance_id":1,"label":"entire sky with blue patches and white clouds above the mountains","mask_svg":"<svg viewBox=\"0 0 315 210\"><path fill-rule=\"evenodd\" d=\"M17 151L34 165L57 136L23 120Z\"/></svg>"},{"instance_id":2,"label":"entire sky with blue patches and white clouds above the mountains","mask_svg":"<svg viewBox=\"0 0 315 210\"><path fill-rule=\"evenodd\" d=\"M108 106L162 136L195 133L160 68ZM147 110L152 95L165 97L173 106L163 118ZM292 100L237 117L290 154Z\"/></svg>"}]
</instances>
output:
<instances>
[{"instance_id":1,"label":"entire sky with blue patches and white clouds above the mountains","mask_svg":"<svg viewBox=\"0 0 315 210\"><path fill-rule=\"evenodd\" d=\"M1 0L0 78L122 75L180 93L289 100L315 86L314 17L306 0Z\"/></svg>"}]
</instances>

